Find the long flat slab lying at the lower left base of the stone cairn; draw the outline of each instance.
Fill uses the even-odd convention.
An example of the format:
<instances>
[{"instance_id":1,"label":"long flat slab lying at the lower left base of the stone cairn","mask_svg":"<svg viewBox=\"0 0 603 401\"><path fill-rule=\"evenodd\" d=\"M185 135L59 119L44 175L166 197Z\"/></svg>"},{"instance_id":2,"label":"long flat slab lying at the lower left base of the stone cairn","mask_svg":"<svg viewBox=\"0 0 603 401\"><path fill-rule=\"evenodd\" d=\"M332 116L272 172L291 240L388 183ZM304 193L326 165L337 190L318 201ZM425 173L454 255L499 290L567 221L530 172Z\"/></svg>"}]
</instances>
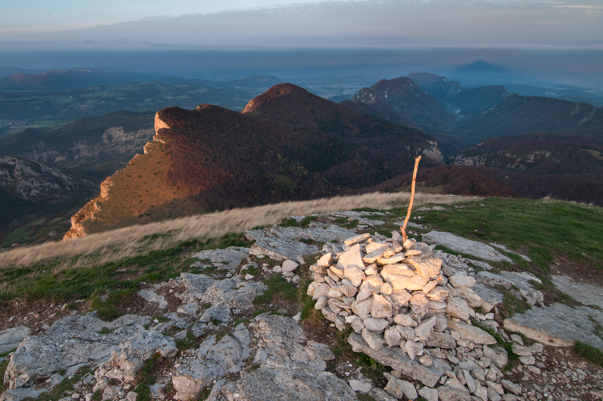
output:
<instances>
[{"instance_id":1,"label":"long flat slab lying at the lower left base of the stone cairn","mask_svg":"<svg viewBox=\"0 0 603 401\"><path fill-rule=\"evenodd\" d=\"M399 347L383 347L378 351L373 350L362 336L356 333L350 334L347 342L352 345L354 352L363 352L380 364L390 366L429 387L434 387L445 371L452 370L446 361L439 358L434 358L435 363L430 367L425 367L418 361L411 361L408 354Z\"/></svg>"}]
</instances>

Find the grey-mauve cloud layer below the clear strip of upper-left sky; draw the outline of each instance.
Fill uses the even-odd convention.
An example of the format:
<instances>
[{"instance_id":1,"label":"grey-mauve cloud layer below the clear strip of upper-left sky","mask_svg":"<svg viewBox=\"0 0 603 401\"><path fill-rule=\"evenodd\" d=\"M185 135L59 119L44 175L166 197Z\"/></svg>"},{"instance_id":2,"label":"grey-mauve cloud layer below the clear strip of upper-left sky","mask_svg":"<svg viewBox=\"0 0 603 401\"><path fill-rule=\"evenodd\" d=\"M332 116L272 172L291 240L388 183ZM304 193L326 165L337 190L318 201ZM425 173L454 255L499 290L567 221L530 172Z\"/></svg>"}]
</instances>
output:
<instances>
[{"instance_id":1,"label":"grey-mauve cloud layer below the clear strip of upper-left sky","mask_svg":"<svg viewBox=\"0 0 603 401\"><path fill-rule=\"evenodd\" d=\"M601 48L602 38L603 7L596 0L317 2L45 33L0 31L5 48Z\"/></svg>"}]
</instances>

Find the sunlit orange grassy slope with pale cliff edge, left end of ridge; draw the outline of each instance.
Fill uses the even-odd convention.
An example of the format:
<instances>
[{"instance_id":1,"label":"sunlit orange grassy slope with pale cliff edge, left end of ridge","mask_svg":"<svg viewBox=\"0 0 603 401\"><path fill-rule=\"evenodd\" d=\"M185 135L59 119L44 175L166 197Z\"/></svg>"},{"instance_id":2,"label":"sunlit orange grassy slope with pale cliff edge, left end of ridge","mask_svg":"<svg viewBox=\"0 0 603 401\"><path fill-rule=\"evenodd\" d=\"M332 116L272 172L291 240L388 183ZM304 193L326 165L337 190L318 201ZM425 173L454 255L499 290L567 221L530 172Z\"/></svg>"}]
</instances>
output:
<instances>
[{"instance_id":1,"label":"sunlit orange grassy slope with pale cliff edge, left end of ridge","mask_svg":"<svg viewBox=\"0 0 603 401\"><path fill-rule=\"evenodd\" d=\"M102 182L99 196L71 217L71 229L64 240L134 223L176 217L183 210L202 211L192 200L192 193L171 187L163 179L168 167L166 151L170 141L159 131L166 128L169 128L168 124L156 115L156 134L145 144L144 155L135 155L124 170L116 171Z\"/></svg>"}]
</instances>

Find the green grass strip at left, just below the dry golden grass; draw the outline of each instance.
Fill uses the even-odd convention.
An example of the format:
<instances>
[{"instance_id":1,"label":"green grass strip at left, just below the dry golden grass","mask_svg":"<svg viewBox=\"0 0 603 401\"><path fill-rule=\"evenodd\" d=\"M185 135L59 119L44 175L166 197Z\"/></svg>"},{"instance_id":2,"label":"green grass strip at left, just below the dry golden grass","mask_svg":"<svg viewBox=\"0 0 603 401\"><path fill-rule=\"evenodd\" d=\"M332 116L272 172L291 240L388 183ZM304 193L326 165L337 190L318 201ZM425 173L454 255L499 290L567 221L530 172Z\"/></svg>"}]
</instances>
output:
<instances>
[{"instance_id":1,"label":"green grass strip at left, just below the dry golden grass","mask_svg":"<svg viewBox=\"0 0 603 401\"><path fill-rule=\"evenodd\" d=\"M0 301L10 300L14 297L32 300L52 297L57 301L73 298L86 299L92 297L93 293L99 290L101 294L113 290L135 292L136 285L140 281L146 283L168 281L170 278L178 277L181 271L188 271L189 266L197 259L188 258L183 255L183 252L191 254L204 249L224 249L228 246L249 246L250 244L251 242L241 240L241 234L230 233L219 238L186 240L168 249L153 250L98 266L64 269L55 274L52 274L52 271L57 266L70 260L53 260L50 263L28 268L1 268L0 286L4 286L4 289L0 290ZM72 263L76 261L77 257L71 260ZM139 272L143 274L136 280L115 279L118 274ZM25 280L26 277L27 280ZM115 293L115 297L124 295L119 294Z\"/></svg>"}]
</instances>

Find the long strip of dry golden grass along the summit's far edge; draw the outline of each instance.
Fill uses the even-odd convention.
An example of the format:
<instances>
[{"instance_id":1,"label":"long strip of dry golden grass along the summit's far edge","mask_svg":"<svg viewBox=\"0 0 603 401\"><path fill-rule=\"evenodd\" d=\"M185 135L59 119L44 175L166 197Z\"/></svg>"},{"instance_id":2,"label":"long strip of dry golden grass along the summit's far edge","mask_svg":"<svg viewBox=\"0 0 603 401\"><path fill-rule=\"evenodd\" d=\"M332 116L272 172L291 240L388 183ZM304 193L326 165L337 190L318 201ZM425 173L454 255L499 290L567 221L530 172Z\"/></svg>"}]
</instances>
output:
<instances>
[{"instance_id":1,"label":"long strip of dry golden grass along the summit's far edge","mask_svg":"<svg viewBox=\"0 0 603 401\"><path fill-rule=\"evenodd\" d=\"M0 267L31 266L43 261L66 258L55 270L99 265L109 261L131 257L140 252L165 249L191 238L219 237L226 233L241 232L259 225L280 223L287 216L349 211L370 207L388 209L408 203L409 193L373 193L354 196L336 196L314 201L283 202L251 208L218 211L215 213L163 220L145 225L90 234L89 236L62 242L46 242L24 246L0 253ZM474 201L476 196L448 196L417 193L415 206L423 204L454 204ZM168 237L144 239L153 234L171 234Z\"/></svg>"}]
</instances>

